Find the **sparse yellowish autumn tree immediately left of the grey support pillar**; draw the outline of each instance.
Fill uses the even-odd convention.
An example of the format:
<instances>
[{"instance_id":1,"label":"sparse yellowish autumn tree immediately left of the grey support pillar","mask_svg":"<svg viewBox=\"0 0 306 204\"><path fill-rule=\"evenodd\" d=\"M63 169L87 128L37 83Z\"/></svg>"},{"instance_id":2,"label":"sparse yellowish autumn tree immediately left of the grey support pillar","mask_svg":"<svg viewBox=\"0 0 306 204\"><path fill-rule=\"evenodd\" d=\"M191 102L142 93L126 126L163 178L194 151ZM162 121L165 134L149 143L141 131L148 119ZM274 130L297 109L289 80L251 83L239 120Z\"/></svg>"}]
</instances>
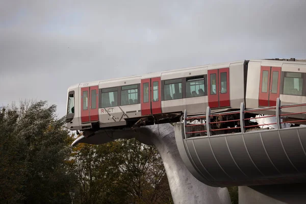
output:
<instances>
[{"instance_id":1,"label":"sparse yellowish autumn tree immediately left of the grey support pillar","mask_svg":"<svg viewBox=\"0 0 306 204\"><path fill-rule=\"evenodd\" d=\"M129 197L133 203L172 202L170 187L163 161L155 146L142 144L136 139L121 140L120 165Z\"/></svg>"}]
</instances>

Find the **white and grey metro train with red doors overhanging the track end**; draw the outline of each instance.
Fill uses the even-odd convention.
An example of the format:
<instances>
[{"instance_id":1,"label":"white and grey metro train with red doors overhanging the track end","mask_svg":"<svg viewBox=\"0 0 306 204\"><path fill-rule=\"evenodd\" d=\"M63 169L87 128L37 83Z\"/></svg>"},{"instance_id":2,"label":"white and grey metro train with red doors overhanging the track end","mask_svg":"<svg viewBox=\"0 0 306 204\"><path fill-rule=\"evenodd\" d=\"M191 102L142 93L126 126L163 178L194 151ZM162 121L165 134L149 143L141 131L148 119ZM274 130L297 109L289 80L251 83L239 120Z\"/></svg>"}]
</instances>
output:
<instances>
[{"instance_id":1,"label":"white and grey metro train with red doors overhanging the track end","mask_svg":"<svg viewBox=\"0 0 306 204\"><path fill-rule=\"evenodd\" d=\"M178 122L184 110L196 116L205 114L208 106L212 113L240 110L241 103L245 109L272 107L278 97L282 105L306 103L305 60L244 60L80 83L68 88L66 126L87 137L100 129ZM306 118L306 107L284 112ZM275 115L275 110L246 114L245 118ZM211 120L237 117L227 114ZM233 125L237 123L212 128Z\"/></svg>"}]
</instances>

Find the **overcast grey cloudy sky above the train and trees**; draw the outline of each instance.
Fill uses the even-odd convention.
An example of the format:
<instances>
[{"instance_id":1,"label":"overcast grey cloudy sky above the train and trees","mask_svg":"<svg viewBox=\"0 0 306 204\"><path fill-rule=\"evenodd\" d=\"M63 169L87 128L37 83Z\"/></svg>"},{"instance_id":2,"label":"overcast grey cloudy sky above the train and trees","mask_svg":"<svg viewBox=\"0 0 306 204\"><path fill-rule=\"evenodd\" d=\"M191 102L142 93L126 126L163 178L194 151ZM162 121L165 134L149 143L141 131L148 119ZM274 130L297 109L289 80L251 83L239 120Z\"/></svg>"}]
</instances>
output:
<instances>
[{"instance_id":1,"label":"overcast grey cloudy sky above the train and trees","mask_svg":"<svg viewBox=\"0 0 306 204\"><path fill-rule=\"evenodd\" d=\"M189 66L306 58L306 1L0 0L0 106Z\"/></svg>"}]
</instances>

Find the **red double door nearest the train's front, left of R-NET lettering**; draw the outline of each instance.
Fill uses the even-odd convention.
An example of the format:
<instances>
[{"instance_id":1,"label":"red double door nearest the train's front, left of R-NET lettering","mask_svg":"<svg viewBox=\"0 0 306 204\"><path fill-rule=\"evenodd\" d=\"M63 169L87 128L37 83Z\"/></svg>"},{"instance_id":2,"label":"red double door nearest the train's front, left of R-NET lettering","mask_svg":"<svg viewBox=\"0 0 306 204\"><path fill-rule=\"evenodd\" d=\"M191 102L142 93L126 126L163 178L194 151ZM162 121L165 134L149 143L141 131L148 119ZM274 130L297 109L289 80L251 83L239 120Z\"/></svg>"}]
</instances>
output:
<instances>
[{"instance_id":1,"label":"red double door nearest the train's front, left of R-NET lettering","mask_svg":"<svg viewBox=\"0 0 306 204\"><path fill-rule=\"evenodd\" d=\"M81 121L97 121L98 116L98 86L81 88Z\"/></svg>"}]
</instances>

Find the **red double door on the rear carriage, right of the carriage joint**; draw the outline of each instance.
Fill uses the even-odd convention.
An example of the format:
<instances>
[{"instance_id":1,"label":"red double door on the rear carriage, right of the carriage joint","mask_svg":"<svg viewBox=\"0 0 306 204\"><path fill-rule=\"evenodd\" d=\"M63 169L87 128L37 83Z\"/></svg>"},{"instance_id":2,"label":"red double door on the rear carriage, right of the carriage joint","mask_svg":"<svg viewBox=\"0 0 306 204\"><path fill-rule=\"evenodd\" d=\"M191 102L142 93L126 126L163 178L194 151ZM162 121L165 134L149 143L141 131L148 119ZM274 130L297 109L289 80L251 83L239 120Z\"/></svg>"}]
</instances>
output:
<instances>
[{"instance_id":1,"label":"red double door on the rear carriage, right of the carriage joint","mask_svg":"<svg viewBox=\"0 0 306 204\"><path fill-rule=\"evenodd\" d=\"M281 67L261 67L259 106L276 106L276 99L279 97L279 87L281 84L281 69Z\"/></svg>"}]
</instances>

